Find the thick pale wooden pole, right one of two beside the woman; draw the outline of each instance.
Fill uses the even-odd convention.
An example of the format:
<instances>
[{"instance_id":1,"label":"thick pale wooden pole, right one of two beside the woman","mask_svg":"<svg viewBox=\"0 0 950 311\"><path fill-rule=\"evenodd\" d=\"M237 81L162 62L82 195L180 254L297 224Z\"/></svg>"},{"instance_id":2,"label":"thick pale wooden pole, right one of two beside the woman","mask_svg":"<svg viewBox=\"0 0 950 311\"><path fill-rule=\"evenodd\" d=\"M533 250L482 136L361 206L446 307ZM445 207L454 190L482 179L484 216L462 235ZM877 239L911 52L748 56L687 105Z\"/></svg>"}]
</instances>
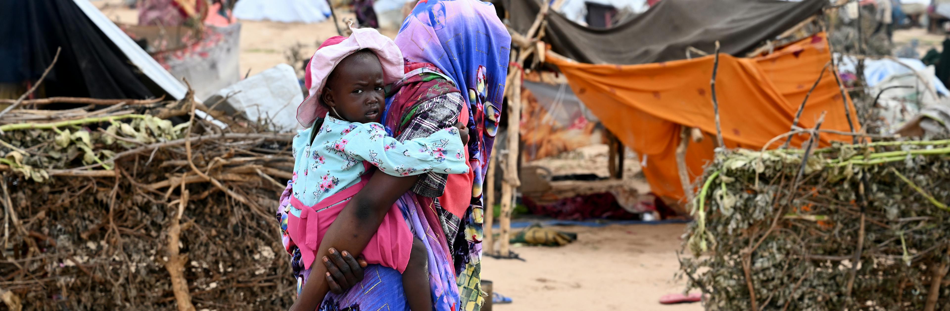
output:
<instances>
[{"instance_id":1,"label":"thick pale wooden pole, right one of two beside the woman","mask_svg":"<svg viewBox=\"0 0 950 311\"><path fill-rule=\"evenodd\" d=\"M517 70L517 69L516 69ZM511 208L515 199L515 191L521 184L518 180L518 133L521 130L522 119L522 75L515 74L512 80L511 97L508 98L508 154L504 161L504 179L502 180L502 214L498 217L501 225L499 234L499 255L508 257L508 235L511 231Z\"/></svg>"}]
</instances>

